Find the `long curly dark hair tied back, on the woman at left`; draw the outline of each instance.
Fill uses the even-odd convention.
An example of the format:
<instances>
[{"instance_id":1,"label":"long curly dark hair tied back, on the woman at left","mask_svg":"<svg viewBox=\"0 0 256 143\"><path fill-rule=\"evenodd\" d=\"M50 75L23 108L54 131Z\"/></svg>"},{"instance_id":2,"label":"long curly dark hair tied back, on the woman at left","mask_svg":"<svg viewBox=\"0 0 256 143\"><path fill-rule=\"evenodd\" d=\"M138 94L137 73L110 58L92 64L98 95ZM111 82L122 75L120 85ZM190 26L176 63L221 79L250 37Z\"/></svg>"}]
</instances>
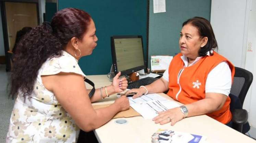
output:
<instances>
[{"instance_id":1,"label":"long curly dark hair tied back, on the woman at left","mask_svg":"<svg viewBox=\"0 0 256 143\"><path fill-rule=\"evenodd\" d=\"M14 55L9 97L14 98L18 93L30 96L42 64L48 58L61 56L72 37L82 39L91 19L82 10L66 8L58 11L51 23L44 22L25 34Z\"/></svg>"}]
</instances>

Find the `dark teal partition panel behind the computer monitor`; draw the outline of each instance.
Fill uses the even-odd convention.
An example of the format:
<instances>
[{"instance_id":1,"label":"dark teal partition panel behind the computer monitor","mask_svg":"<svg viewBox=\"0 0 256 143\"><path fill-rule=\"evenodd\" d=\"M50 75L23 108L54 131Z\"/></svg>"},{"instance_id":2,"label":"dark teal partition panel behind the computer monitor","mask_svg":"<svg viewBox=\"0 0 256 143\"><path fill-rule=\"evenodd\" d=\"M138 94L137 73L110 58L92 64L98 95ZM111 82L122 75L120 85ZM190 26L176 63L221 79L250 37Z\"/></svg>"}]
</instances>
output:
<instances>
[{"instance_id":1,"label":"dark teal partition panel behind the computer monitor","mask_svg":"<svg viewBox=\"0 0 256 143\"><path fill-rule=\"evenodd\" d=\"M84 10L95 22L98 45L78 63L86 75L109 73L112 35L142 35L146 52L147 0L59 0L58 6Z\"/></svg>"}]
</instances>

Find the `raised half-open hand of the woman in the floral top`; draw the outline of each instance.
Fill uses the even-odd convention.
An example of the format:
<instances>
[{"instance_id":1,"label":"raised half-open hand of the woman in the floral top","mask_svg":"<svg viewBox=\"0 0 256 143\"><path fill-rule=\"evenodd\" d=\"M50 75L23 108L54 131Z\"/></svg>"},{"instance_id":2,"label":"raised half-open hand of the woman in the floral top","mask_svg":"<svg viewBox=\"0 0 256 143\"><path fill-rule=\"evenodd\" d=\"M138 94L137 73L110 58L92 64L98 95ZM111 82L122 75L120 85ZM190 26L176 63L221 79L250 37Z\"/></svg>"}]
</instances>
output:
<instances>
[{"instance_id":1,"label":"raised half-open hand of the woman in the floral top","mask_svg":"<svg viewBox=\"0 0 256 143\"><path fill-rule=\"evenodd\" d=\"M127 86L128 86L127 79L125 77L119 79L120 75L121 75L121 72L115 75L112 81L112 87L115 93L123 92L124 90L127 89Z\"/></svg>"}]
</instances>

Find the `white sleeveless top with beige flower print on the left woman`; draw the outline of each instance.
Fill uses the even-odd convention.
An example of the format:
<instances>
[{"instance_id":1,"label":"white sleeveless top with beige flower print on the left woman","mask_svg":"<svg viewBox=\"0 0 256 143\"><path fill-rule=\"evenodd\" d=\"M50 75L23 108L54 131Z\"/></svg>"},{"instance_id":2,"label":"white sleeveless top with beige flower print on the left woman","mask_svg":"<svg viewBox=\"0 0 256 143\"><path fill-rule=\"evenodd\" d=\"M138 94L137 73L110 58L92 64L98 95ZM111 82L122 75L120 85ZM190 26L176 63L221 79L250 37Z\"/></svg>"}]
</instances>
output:
<instances>
[{"instance_id":1,"label":"white sleeveless top with beige flower print on the left woman","mask_svg":"<svg viewBox=\"0 0 256 143\"><path fill-rule=\"evenodd\" d=\"M77 141L80 129L63 109L51 91L42 84L42 75L60 72L76 73L86 77L69 53L62 51L58 58L48 59L39 69L32 96L19 93L10 118L6 142L53 143Z\"/></svg>"}]
</instances>

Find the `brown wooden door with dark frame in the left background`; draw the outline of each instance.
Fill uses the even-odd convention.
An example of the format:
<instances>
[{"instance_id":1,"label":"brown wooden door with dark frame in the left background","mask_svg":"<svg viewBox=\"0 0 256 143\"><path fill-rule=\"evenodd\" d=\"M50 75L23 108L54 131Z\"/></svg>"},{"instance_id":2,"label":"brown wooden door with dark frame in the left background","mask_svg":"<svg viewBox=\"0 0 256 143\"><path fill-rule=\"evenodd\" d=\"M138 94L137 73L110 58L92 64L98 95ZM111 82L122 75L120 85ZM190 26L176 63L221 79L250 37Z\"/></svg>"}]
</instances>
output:
<instances>
[{"instance_id":1,"label":"brown wooden door with dark frame in the left background","mask_svg":"<svg viewBox=\"0 0 256 143\"><path fill-rule=\"evenodd\" d=\"M3 7L2 21L6 70L10 71L10 55L7 54L7 51L12 51L17 31L21 30L23 27L34 28L38 26L38 3L4 1L1 5Z\"/></svg>"}]
</instances>

